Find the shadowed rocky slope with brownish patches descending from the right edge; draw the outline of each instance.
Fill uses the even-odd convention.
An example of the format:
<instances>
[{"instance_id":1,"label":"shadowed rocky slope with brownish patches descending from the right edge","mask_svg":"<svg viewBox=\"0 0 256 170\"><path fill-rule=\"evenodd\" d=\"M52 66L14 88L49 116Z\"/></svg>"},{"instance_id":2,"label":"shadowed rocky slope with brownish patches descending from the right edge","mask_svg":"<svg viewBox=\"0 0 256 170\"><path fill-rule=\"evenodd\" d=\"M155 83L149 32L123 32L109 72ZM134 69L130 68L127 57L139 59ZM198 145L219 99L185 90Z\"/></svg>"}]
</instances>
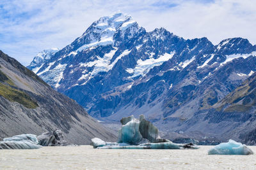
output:
<instances>
[{"instance_id":1,"label":"shadowed rocky slope with brownish patches descending from the right edge","mask_svg":"<svg viewBox=\"0 0 256 170\"><path fill-rule=\"evenodd\" d=\"M204 135L205 138L214 136L221 141L235 139L255 145L255 83L256 73L211 108L198 110L192 118L179 124L171 120L172 125L166 127L201 140Z\"/></svg>"}]
</instances>

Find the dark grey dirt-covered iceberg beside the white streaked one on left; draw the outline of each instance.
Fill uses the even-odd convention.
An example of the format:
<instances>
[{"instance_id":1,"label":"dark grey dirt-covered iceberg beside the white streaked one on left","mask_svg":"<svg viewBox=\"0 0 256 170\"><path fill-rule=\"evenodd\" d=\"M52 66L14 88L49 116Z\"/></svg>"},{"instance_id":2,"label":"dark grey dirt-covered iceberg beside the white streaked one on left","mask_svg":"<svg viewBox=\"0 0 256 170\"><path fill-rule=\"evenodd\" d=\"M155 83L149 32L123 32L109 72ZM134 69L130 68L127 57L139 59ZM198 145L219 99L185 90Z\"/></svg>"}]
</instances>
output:
<instances>
[{"instance_id":1,"label":"dark grey dirt-covered iceberg beside the white streaked one on left","mask_svg":"<svg viewBox=\"0 0 256 170\"><path fill-rule=\"evenodd\" d=\"M63 136L61 130L45 132L37 136L38 145L42 146L74 146L72 143L68 143Z\"/></svg>"}]
</instances>

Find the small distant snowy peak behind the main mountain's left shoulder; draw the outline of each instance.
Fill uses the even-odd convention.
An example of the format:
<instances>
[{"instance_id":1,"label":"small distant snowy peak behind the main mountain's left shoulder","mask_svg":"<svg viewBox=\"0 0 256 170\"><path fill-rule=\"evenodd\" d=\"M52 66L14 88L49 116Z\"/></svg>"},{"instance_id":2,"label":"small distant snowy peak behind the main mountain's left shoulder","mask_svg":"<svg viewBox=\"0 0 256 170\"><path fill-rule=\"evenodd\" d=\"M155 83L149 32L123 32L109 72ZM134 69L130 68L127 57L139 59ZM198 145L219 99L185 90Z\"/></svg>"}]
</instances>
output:
<instances>
[{"instance_id":1,"label":"small distant snowy peak behind the main mountain's left shoulder","mask_svg":"<svg viewBox=\"0 0 256 170\"><path fill-rule=\"evenodd\" d=\"M37 53L33 61L29 64L28 68L36 73L38 71L38 67L42 66L42 64L44 64L47 60L51 59L51 57L59 50L59 48L50 48Z\"/></svg>"}]
</instances>

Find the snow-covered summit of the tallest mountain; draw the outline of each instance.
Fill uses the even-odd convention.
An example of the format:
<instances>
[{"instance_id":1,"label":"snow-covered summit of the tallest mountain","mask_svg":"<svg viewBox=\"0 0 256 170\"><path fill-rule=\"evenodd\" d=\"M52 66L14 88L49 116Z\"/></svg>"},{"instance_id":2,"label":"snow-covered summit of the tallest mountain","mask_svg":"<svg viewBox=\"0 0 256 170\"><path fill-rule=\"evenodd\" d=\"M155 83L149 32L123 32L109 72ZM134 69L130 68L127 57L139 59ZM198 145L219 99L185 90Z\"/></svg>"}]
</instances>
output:
<instances>
[{"instance_id":1,"label":"snow-covered summit of the tallest mountain","mask_svg":"<svg viewBox=\"0 0 256 170\"><path fill-rule=\"evenodd\" d=\"M134 35L140 28L135 20L129 15L115 13L108 17L101 17L93 22L83 35L77 38L71 46L76 52L81 52L87 48L98 45L113 45L115 43L114 35L118 32L125 32L133 27L130 36Z\"/></svg>"}]
</instances>

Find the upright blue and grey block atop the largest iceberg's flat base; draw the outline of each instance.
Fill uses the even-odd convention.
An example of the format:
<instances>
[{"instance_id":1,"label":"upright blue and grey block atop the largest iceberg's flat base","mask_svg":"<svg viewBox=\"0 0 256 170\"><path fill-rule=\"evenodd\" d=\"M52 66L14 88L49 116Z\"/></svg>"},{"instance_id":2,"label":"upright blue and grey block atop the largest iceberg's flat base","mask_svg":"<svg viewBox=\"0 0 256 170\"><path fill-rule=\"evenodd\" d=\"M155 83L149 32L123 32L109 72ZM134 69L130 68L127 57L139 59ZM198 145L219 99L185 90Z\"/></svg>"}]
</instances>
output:
<instances>
[{"instance_id":1,"label":"upright blue and grey block atop the largest iceberg's flat base","mask_svg":"<svg viewBox=\"0 0 256 170\"><path fill-rule=\"evenodd\" d=\"M143 115L140 119L130 117L122 118L122 128L118 131L118 143L129 143L136 145L141 142L143 138L148 139L150 143L161 143L168 140L161 139L156 126L151 122L145 120Z\"/></svg>"}]
</instances>

